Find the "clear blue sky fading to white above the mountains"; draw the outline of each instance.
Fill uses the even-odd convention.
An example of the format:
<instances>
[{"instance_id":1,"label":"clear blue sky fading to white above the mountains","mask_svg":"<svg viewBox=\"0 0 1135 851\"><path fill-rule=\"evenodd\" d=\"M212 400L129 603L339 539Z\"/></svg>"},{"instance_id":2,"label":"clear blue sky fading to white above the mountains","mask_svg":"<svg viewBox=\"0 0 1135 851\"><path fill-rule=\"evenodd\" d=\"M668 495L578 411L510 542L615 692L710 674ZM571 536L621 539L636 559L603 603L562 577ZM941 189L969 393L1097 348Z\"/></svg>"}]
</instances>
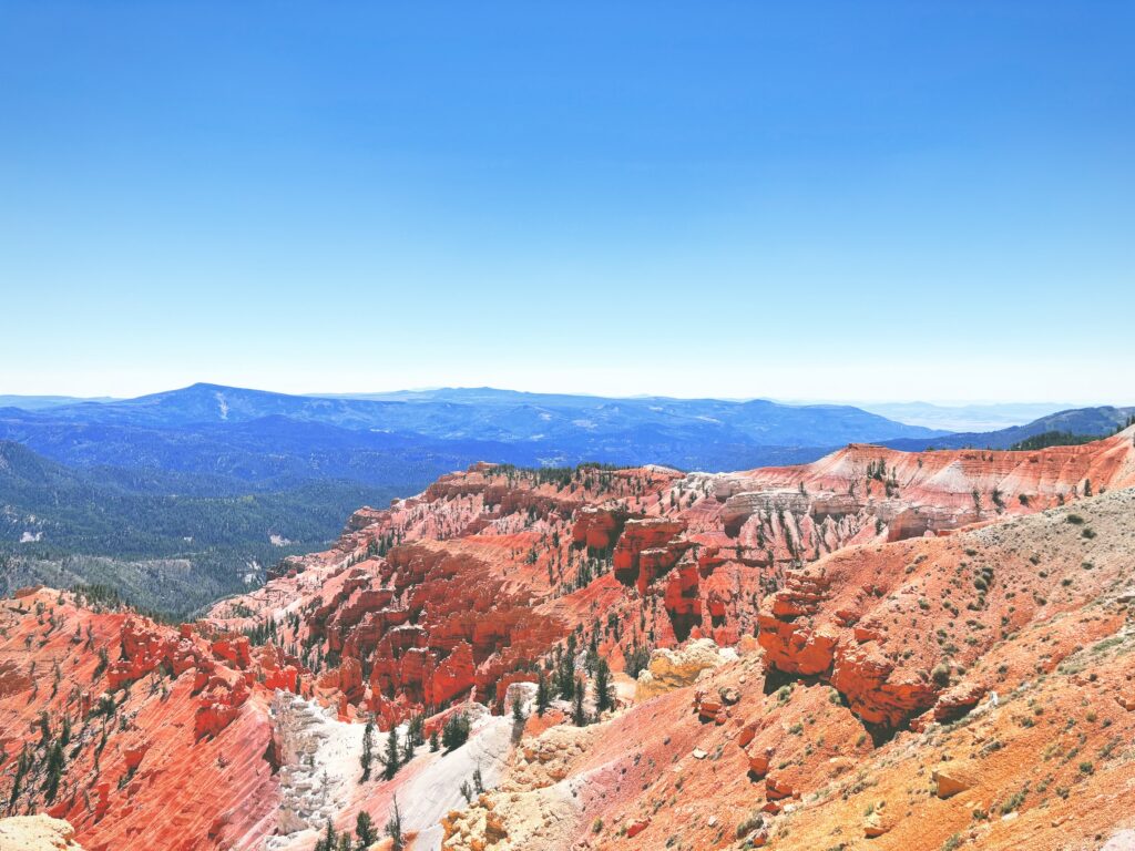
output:
<instances>
[{"instance_id":1,"label":"clear blue sky fading to white above the mountains","mask_svg":"<svg viewBox=\"0 0 1135 851\"><path fill-rule=\"evenodd\" d=\"M7 0L0 393L1132 403L1133 41L1070 0Z\"/></svg>"}]
</instances>

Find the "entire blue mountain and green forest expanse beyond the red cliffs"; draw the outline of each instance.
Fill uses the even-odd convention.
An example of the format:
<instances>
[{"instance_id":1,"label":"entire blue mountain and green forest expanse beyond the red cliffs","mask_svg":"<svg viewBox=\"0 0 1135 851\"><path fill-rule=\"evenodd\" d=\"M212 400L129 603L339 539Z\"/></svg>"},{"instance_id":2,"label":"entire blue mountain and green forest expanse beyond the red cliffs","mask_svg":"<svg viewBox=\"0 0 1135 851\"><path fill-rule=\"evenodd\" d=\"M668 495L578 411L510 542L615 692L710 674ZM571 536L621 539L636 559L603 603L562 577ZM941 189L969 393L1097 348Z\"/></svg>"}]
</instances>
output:
<instances>
[{"instance_id":1,"label":"entire blue mountain and green forest expanse beyond the red cliffs","mask_svg":"<svg viewBox=\"0 0 1135 851\"><path fill-rule=\"evenodd\" d=\"M1107 433L1128 408L951 433L848 405L603 398L491 388L351 397L199 384L133 399L0 397L0 582L100 582L185 614L319 548L356 507L494 461L725 471L848 443L1009 446Z\"/></svg>"}]
</instances>

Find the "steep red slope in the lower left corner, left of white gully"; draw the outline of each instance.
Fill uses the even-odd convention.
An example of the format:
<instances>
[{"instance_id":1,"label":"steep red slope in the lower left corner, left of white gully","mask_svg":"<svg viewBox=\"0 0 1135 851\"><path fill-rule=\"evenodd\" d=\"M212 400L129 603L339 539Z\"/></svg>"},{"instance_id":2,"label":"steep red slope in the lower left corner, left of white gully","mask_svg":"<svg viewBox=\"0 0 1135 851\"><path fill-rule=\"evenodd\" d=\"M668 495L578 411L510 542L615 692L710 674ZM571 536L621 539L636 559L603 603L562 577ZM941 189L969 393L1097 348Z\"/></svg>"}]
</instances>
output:
<instances>
[{"instance_id":1,"label":"steep red slope in the lower left corner, left of white gully","mask_svg":"<svg viewBox=\"0 0 1135 851\"><path fill-rule=\"evenodd\" d=\"M210 642L43 589L3 604L0 654L9 812L66 818L87 851L142 837L211 849L266 829L271 730L267 692L242 669L243 639ZM52 795L57 744L62 773Z\"/></svg>"}]
</instances>

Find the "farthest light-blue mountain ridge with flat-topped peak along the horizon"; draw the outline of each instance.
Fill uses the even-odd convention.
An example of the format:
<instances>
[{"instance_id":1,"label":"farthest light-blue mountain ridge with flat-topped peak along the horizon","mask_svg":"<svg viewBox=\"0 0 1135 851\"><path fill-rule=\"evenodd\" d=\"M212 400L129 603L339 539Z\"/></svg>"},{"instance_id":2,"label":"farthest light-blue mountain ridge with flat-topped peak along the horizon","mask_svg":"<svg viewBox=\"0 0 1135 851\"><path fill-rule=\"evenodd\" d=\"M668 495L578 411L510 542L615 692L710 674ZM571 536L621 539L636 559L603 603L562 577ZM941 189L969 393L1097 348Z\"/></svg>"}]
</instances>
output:
<instances>
[{"instance_id":1,"label":"farthest light-blue mountain ridge with flat-topped peak along the horizon","mask_svg":"<svg viewBox=\"0 0 1135 851\"><path fill-rule=\"evenodd\" d=\"M850 405L783 405L763 399L624 399L493 388L314 397L197 384L133 399L54 405L43 408L42 413L56 420L179 428L249 422L278 415L348 429L506 441L554 441L565 433L586 436L647 423L663 430L691 424L735 429L754 444L764 446L819 445L816 441L838 443L865 435L876 439L922 437L932 431Z\"/></svg>"}]
</instances>

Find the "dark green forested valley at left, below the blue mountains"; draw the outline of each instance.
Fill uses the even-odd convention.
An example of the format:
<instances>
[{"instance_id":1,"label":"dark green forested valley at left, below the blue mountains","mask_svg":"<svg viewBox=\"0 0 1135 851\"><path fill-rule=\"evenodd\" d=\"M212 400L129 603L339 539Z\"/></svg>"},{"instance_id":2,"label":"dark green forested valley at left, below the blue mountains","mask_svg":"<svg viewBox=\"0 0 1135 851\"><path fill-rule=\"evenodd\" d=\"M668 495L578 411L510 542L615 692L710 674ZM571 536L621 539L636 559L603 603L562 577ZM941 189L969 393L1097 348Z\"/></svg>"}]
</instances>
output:
<instances>
[{"instance_id":1,"label":"dark green forested valley at left, below the blue mountains","mask_svg":"<svg viewBox=\"0 0 1135 851\"><path fill-rule=\"evenodd\" d=\"M283 556L322 546L360 505L394 496L340 479L243 494L237 485L70 469L0 441L0 589L98 583L138 607L187 614L259 583Z\"/></svg>"}]
</instances>

